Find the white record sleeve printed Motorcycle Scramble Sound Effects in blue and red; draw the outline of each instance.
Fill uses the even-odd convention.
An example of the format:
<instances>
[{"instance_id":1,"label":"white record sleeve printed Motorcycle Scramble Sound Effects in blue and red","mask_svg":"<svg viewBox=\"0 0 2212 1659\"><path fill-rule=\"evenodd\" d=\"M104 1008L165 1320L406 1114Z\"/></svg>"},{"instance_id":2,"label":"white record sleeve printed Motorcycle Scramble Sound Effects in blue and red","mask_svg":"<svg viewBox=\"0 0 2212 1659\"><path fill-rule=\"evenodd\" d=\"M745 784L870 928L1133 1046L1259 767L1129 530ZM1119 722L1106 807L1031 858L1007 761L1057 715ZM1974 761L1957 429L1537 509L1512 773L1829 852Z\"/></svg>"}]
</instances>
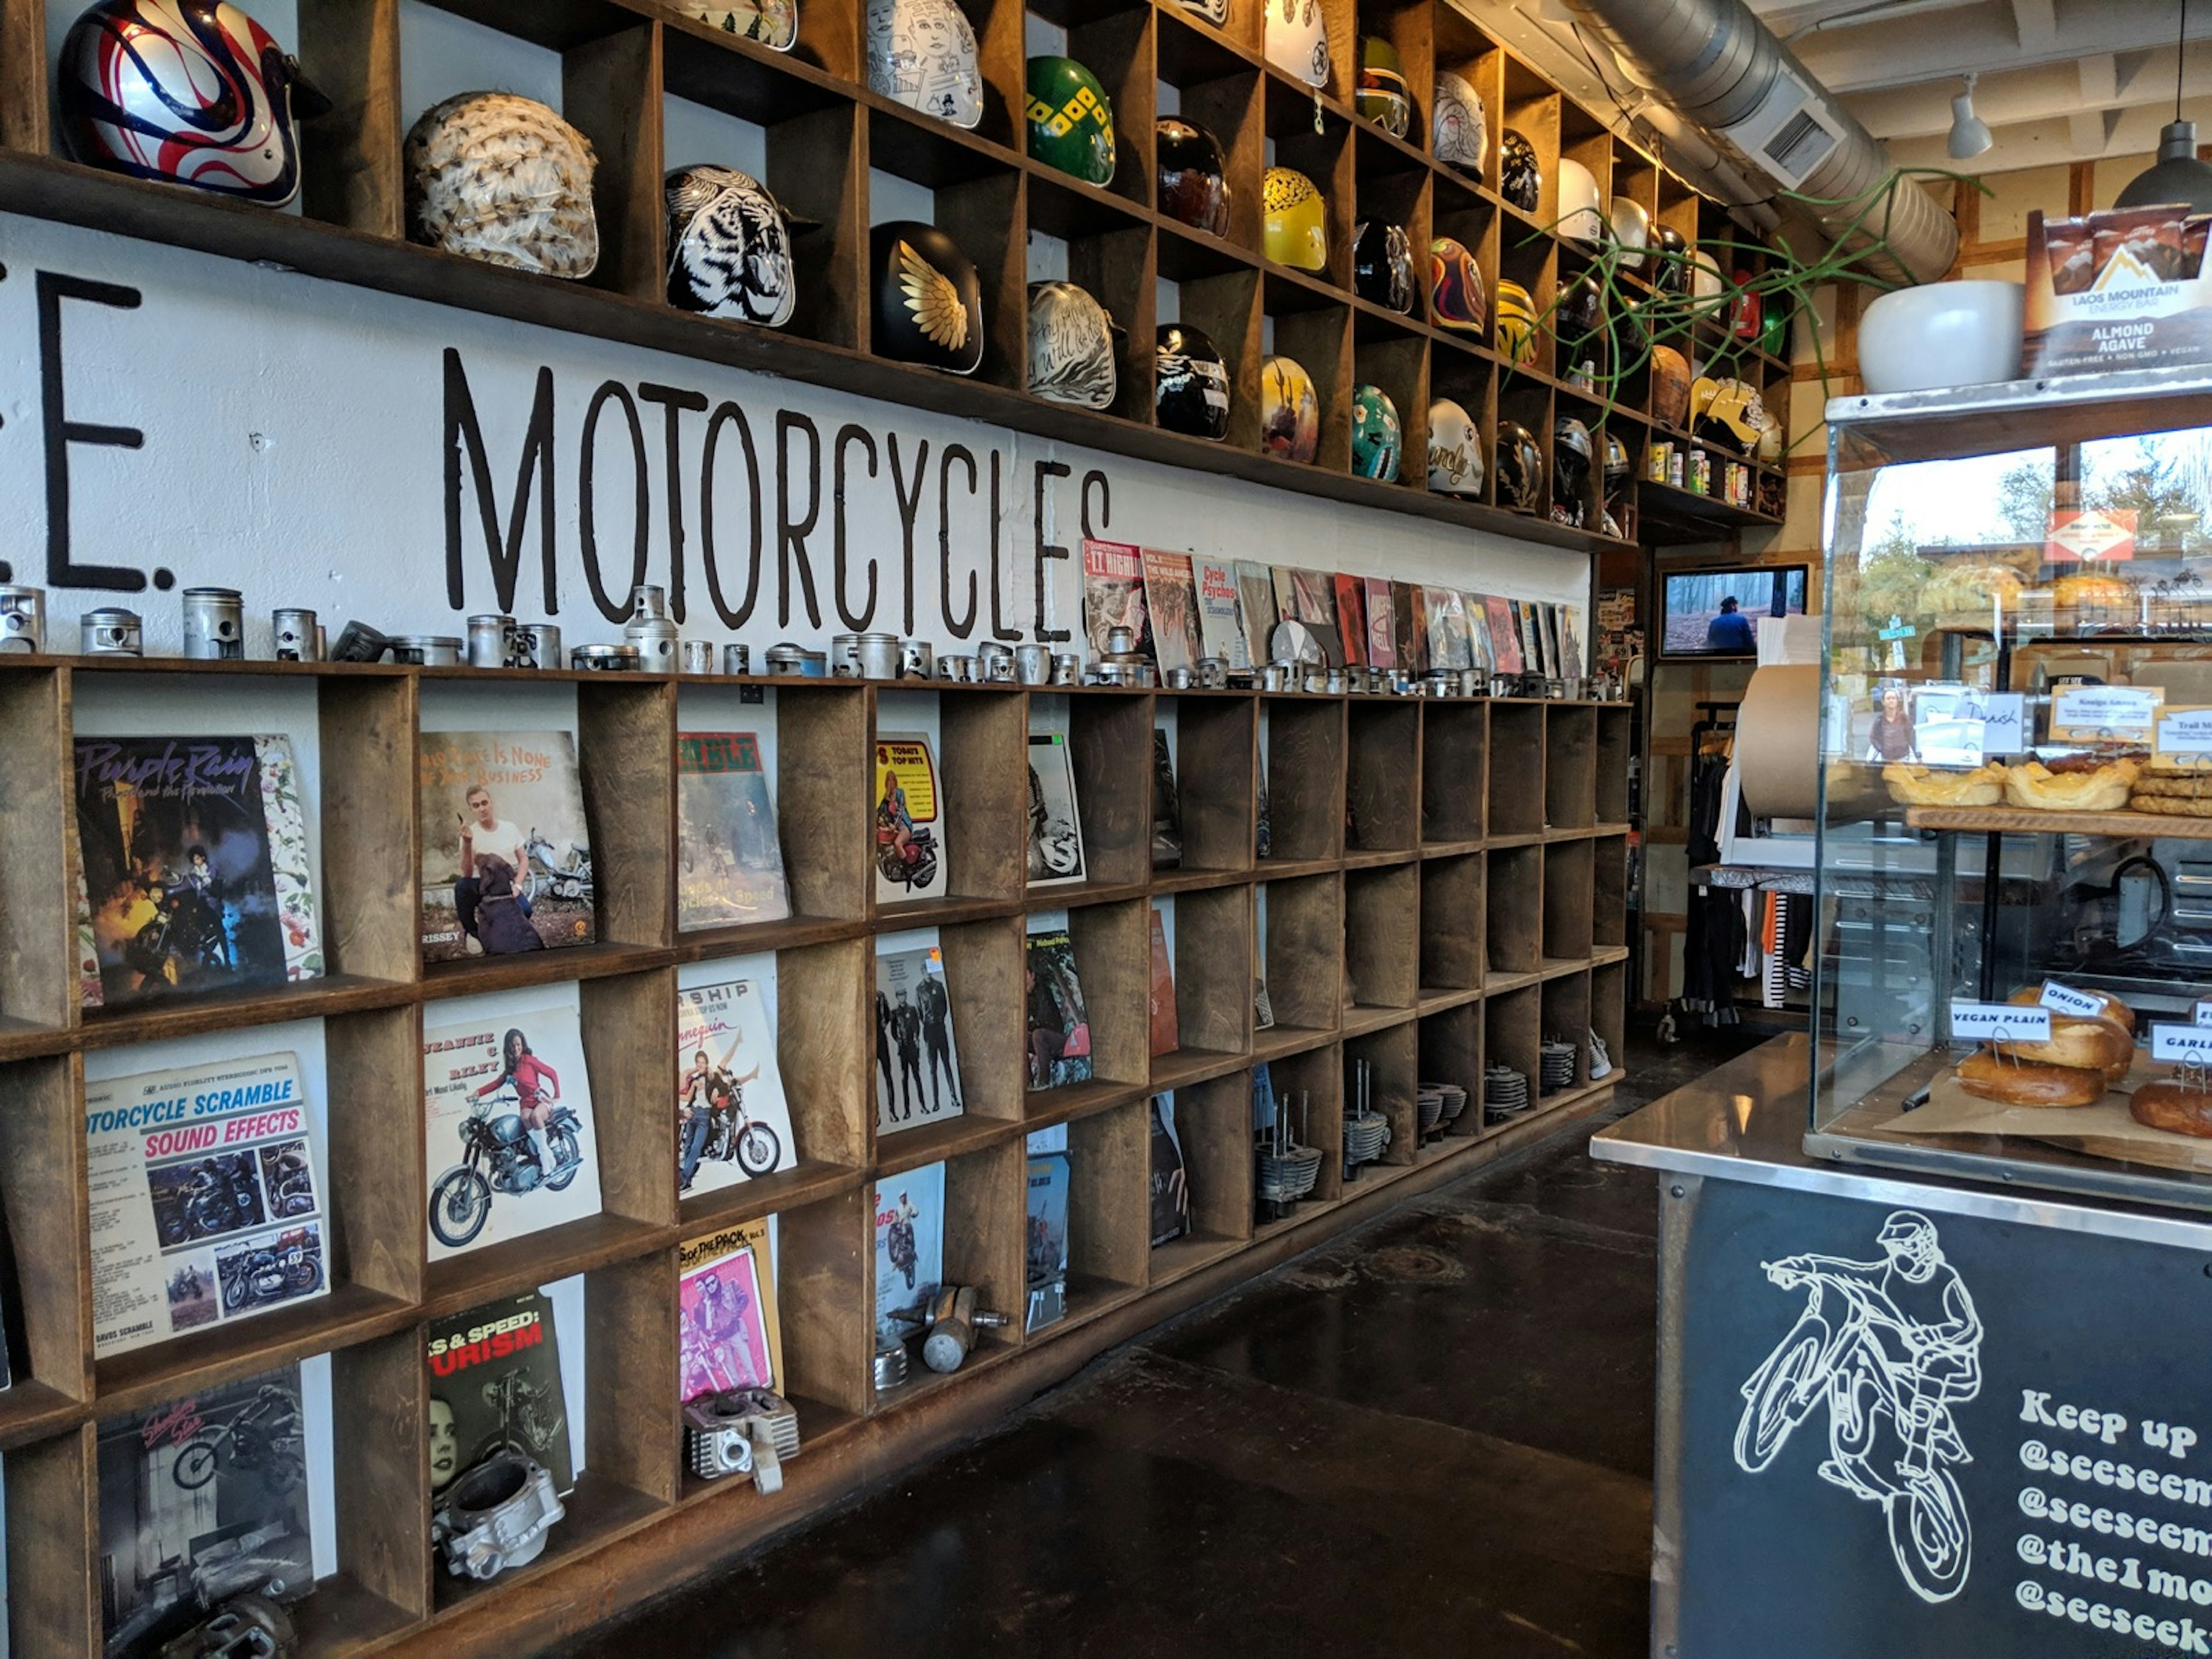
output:
<instances>
[{"instance_id":1,"label":"white record sleeve printed Motorcycle Scramble Sound Effects in blue and red","mask_svg":"<svg viewBox=\"0 0 2212 1659\"><path fill-rule=\"evenodd\" d=\"M330 1294L330 1201L299 1057L84 1086L93 1354Z\"/></svg>"}]
</instances>

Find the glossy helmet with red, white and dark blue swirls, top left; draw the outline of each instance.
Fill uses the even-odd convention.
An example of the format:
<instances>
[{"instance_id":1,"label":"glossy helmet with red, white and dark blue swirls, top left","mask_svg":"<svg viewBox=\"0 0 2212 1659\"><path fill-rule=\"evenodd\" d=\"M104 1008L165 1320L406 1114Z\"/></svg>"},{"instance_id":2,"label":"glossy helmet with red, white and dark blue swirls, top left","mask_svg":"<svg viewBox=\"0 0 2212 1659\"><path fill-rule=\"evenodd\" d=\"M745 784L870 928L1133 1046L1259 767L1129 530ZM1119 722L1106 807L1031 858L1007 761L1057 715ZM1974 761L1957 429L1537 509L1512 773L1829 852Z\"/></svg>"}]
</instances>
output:
<instances>
[{"instance_id":1,"label":"glossy helmet with red, white and dark blue swirls, top left","mask_svg":"<svg viewBox=\"0 0 2212 1659\"><path fill-rule=\"evenodd\" d=\"M69 27L62 137L86 166L281 208L316 93L274 35L215 0L100 0Z\"/></svg>"}]
</instances>

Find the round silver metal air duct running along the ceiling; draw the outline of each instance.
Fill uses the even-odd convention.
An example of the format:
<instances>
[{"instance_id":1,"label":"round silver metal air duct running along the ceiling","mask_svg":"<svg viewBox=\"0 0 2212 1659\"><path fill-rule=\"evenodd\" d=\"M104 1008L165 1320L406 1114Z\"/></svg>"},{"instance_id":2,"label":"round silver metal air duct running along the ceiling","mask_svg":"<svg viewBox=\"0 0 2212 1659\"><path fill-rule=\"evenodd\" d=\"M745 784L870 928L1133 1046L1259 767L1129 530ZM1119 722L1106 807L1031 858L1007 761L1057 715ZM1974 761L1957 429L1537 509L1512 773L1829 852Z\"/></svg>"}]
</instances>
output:
<instances>
[{"instance_id":1,"label":"round silver metal air duct running along the ceiling","mask_svg":"<svg viewBox=\"0 0 2212 1659\"><path fill-rule=\"evenodd\" d=\"M1750 199L1770 199L1785 241L1816 234L1820 248L1845 239L1851 219L1891 173L1889 150L1867 133L1818 80L1778 42L1743 0L1566 0L1584 24L1613 46L1621 69L1650 91L1690 135L1708 142L1725 175L1752 184ZM1690 146L1699 148L1697 144ZM1699 161L1703 157L1692 157ZM1708 161L1701 170L1714 173ZM1774 199L1774 192L1836 201L1816 208ZM1745 199L1739 199L1743 204ZM1867 230L1851 237L1865 248L1889 241L1889 261L1871 270L1896 281L1931 283L1958 257L1958 223L1924 190L1896 190L1887 212L1876 210ZM1849 243L1847 243L1849 250Z\"/></svg>"}]
</instances>

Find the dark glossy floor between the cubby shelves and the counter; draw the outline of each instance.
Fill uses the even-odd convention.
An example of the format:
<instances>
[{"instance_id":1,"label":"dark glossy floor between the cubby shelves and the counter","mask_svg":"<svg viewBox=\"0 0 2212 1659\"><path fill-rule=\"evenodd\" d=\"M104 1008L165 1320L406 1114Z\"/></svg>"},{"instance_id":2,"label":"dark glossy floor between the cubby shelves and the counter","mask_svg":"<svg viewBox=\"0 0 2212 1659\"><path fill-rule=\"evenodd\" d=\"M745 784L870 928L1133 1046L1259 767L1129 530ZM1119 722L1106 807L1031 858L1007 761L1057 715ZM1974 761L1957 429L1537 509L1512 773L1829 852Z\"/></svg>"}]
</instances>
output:
<instances>
[{"instance_id":1,"label":"dark glossy floor between the cubby shelves and the counter","mask_svg":"<svg viewBox=\"0 0 2212 1659\"><path fill-rule=\"evenodd\" d=\"M1632 1044L1615 1115L1747 1046ZM573 1659L1648 1652L1657 1192L1597 1119L1413 1199Z\"/></svg>"}]
</instances>

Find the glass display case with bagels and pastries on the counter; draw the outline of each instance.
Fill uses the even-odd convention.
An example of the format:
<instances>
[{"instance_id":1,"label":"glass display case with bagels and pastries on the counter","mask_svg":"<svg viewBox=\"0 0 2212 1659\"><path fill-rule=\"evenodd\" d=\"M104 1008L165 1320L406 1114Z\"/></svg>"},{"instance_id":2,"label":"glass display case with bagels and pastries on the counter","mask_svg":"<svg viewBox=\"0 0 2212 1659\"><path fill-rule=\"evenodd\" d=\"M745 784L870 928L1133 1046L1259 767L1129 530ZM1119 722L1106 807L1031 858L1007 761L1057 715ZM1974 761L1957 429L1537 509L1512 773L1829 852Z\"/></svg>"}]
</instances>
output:
<instances>
[{"instance_id":1,"label":"glass display case with bagels and pastries on the counter","mask_svg":"<svg viewBox=\"0 0 2212 1659\"><path fill-rule=\"evenodd\" d=\"M1838 398L1825 613L1807 1152L2212 1208L2212 372Z\"/></svg>"}]
</instances>

